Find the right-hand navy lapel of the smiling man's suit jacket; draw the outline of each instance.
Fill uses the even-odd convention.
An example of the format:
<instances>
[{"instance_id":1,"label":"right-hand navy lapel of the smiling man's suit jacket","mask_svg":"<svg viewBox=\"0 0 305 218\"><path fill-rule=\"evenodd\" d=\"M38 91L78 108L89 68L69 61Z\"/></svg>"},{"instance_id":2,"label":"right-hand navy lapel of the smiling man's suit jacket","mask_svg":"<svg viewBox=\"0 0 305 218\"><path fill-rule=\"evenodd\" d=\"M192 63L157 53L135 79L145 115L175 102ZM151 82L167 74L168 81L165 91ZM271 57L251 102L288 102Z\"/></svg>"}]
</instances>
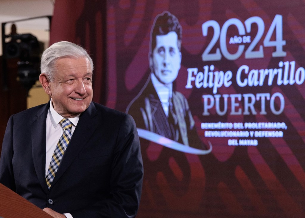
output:
<instances>
[{"instance_id":1,"label":"right-hand navy lapel of the smiling man's suit jacket","mask_svg":"<svg viewBox=\"0 0 305 218\"><path fill-rule=\"evenodd\" d=\"M56 184L56 182L68 169L68 167L77 157L81 149L83 149L83 147L87 144L93 132L95 132L95 129L97 127L97 122L101 122L99 119L95 119L96 115L97 115L96 108L94 104L91 102L88 109L84 111L80 116L80 119L77 123L75 131L69 142L69 145L63 155L63 159L60 162L59 168L56 172L51 188Z\"/></svg>"}]
</instances>

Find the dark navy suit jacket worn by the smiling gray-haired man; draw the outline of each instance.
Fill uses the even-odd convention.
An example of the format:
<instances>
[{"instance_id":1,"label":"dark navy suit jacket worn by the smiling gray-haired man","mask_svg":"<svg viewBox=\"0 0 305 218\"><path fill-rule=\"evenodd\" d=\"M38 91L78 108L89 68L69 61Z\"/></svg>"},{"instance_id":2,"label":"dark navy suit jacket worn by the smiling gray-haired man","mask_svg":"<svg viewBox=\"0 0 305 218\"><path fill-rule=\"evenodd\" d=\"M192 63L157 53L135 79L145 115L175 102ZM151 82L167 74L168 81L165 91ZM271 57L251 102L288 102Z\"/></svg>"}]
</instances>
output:
<instances>
[{"instance_id":1,"label":"dark navy suit jacket worn by the smiling gray-haired man","mask_svg":"<svg viewBox=\"0 0 305 218\"><path fill-rule=\"evenodd\" d=\"M135 217L143 165L133 118L91 102L78 121L52 186L45 181L50 102L9 118L0 182L41 209L76 217Z\"/></svg>"}]
</instances>

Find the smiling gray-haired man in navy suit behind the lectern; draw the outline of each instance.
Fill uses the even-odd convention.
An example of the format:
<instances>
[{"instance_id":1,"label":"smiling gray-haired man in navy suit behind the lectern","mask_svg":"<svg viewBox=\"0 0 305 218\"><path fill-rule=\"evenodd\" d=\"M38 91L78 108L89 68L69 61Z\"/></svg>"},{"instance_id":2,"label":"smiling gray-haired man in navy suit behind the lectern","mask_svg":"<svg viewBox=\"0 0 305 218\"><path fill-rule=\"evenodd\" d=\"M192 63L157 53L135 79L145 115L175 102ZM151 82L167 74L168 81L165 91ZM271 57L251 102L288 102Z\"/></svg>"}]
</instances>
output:
<instances>
[{"instance_id":1,"label":"smiling gray-haired man in navy suit behind the lectern","mask_svg":"<svg viewBox=\"0 0 305 218\"><path fill-rule=\"evenodd\" d=\"M0 182L53 217L135 217L143 179L135 122L91 101L92 70L78 45L45 50L39 81L51 100L10 117Z\"/></svg>"}]
</instances>

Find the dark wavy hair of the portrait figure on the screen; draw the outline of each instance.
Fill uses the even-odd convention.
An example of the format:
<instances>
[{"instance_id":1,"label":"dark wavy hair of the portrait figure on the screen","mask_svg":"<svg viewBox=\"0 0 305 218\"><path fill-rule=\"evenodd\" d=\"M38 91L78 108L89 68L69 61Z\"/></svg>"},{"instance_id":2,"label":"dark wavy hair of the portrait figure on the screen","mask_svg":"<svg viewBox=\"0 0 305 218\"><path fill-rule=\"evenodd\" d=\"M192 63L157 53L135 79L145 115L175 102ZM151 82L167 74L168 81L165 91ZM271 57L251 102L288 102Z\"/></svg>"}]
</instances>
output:
<instances>
[{"instance_id":1,"label":"dark wavy hair of the portrait figure on the screen","mask_svg":"<svg viewBox=\"0 0 305 218\"><path fill-rule=\"evenodd\" d=\"M181 51L182 27L176 16L168 11L158 14L153 22L150 31L150 52L152 53L156 47L156 36L166 35L169 32L175 32L178 36L178 48Z\"/></svg>"}]
</instances>

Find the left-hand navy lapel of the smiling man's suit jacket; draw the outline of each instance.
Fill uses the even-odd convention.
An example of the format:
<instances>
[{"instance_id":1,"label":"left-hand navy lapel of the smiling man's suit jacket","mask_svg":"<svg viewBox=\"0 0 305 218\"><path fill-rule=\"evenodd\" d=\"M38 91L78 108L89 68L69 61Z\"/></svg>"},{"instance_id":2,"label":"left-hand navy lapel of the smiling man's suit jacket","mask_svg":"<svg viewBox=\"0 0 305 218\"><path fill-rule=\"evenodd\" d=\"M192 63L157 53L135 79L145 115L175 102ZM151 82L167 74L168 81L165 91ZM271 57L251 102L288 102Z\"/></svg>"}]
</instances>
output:
<instances>
[{"instance_id":1,"label":"left-hand navy lapel of the smiling man's suit jacket","mask_svg":"<svg viewBox=\"0 0 305 218\"><path fill-rule=\"evenodd\" d=\"M40 108L30 124L34 168L41 187L48 192L45 181L46 118L50 102Z\"/></svg>"}]
</instances>

